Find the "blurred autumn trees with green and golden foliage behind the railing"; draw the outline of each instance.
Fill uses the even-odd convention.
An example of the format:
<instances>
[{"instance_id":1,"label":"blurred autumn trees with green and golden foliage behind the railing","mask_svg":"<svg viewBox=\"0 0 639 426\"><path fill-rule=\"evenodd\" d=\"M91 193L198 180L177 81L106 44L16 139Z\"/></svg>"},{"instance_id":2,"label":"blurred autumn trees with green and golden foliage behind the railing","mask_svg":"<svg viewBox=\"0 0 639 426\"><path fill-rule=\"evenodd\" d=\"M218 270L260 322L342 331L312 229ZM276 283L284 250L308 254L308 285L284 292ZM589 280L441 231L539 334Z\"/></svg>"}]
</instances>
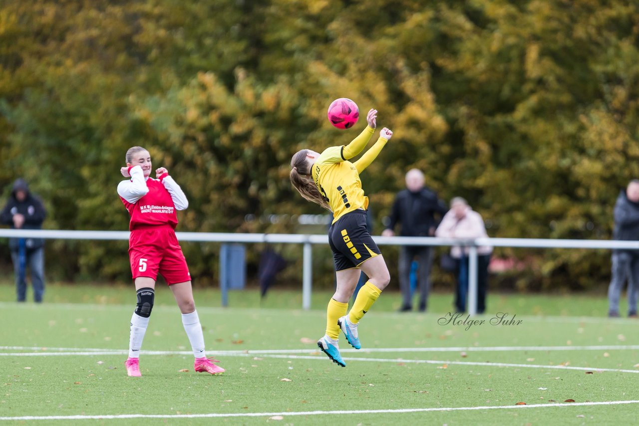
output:
<instances>
[{"instance_id":1,"label":"blurred autumn trees with green and golden foliage behind the railing","mask_svg":"<svg viewBox=\"0 0 639 426\"><path fill-rule=\"evenodd\" d=\"M181 231L290 232L245 215L322 213L291 190L289 160L355 136L325 118L346 96L396 133L363 175L378 230L418 167L491 236L610 238L639 176L638 34L639 4L620 0L3 0L0 186L28 179L50 229L126 229L115 188L142 145L190 199ZM49 248L61 277L128 279L126 245ZM185 251L217 276L217 248ZM525 257L502 277L520 289L610 268L608 252L497 254ZM320 271L332 282L330 259Z\"/></svg>"}]
</instances>

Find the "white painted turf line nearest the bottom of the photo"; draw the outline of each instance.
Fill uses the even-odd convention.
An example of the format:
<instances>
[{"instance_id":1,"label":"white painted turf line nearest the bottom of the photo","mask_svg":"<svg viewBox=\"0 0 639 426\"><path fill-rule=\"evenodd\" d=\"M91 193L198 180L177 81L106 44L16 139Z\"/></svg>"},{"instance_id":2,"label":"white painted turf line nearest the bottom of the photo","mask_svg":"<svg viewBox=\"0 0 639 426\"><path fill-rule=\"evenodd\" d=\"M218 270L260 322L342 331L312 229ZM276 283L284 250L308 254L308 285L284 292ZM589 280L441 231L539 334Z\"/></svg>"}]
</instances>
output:
<instances>
[{"instance_id":1,"label":"white painted turf line nearest the bottom of the photo","mask_svg":"<svg viewBox=\"0 0 639 426\"><path fill-rule=\"evenodd\" d=\"M468 411L494 409L523 409L541 407L583 407L583 406L612 406L620 404L637 404L639 400L600 401L600 402L558 402L556 404L529 404L525 406L482 406L482 407L431 407L431 408L401 408L380 410L332 410L332 411L284 411L282 413L208 413L208 414L174 414L174 415L95 415L95 416L16 416L0 417L0 420L105 420L120 418L212 418L212 417L270 417L270 416L318 416L339 414L385 414L385 413L424 413L428 411Z\"/></svg>"}]
</instances>

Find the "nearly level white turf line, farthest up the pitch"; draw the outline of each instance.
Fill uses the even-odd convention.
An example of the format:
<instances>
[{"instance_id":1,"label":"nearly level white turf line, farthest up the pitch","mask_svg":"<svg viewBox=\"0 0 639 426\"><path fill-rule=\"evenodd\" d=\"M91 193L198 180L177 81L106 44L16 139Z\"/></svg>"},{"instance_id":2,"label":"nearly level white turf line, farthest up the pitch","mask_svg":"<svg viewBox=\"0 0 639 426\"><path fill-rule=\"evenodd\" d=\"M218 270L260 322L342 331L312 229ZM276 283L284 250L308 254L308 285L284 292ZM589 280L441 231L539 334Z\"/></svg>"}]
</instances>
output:
<instances>
[{"instance_id":1,"label":"nearly level white turf line, farthest up the pitch","mask_svg":"<svg viewBox=\"0 0 639 426\"><path fill-rule=\"evenodd\" d=\"M0 351L42 351L42 354L55 355L47 351L74 351L96 354L105 353L127 353L123 349L96 349L96 348L73 348L73 347L45 347L45 346L0 346ZM453 347L371 347L369 349L341 349L341 353L404 353L404 352L508 352L508 351L636 351L639 345L595 345L595 346L453 346ZM209 351L216 355L234 354L310 354L316 353L317 349L247 349L237 351ZM40 353L40 352L38 352ZM154 355L183 355L190 354L190 351L143 351L145 354ZM15 354L3 354L13 355Z\"/></svg>"}]
</instances>

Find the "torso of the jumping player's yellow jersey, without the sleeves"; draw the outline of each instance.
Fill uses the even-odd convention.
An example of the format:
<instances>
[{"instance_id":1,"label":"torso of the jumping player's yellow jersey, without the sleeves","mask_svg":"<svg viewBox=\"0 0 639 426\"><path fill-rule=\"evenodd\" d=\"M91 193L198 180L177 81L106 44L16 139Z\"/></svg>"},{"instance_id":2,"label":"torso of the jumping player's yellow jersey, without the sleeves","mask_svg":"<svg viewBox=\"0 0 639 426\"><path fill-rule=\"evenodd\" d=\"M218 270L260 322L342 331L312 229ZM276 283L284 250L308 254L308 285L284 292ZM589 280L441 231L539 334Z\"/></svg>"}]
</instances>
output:
<instances>
[{"instance_id":1,"label":"torso of the jumping player's yellow jersey, without the sleeves","mask_svg":"<svg viewBox=\"0 0 639 426\"><path fill-rule=\"evenodd\" d=\"M315 161L313 180L333 211L333 222L349 211L368 208L368 197L355 165L342 157L344 146L324 150Z\"/></svg>"}]
</instances>

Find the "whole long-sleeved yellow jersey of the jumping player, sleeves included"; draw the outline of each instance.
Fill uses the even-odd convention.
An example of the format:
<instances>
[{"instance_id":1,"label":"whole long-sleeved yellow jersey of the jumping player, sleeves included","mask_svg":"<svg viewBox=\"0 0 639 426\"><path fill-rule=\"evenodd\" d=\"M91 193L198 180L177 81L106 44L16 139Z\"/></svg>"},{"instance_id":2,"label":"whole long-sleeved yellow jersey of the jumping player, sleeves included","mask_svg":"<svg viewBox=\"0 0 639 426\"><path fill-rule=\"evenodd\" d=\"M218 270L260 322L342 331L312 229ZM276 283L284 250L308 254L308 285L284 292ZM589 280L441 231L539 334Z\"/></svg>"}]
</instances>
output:
<instances>
[{"instance_id":1,"label":"whole long-sleeved yellow jersey of the jumping player, sleeves included","mask_svg":"<svg viewBox=\"0 0 639 426\"><path fill-rule=\"evenodd\" d=\"M380 137L371 149L355 163L350 158L358 155L373 136L374 129L367 126L347 146L332 146L319 155L312 167L315 185L333 211L333 223L349 211L368 208L368 197L362 190L359 174L380 153L387 140Z\"/></svg>"}]
</instances>

